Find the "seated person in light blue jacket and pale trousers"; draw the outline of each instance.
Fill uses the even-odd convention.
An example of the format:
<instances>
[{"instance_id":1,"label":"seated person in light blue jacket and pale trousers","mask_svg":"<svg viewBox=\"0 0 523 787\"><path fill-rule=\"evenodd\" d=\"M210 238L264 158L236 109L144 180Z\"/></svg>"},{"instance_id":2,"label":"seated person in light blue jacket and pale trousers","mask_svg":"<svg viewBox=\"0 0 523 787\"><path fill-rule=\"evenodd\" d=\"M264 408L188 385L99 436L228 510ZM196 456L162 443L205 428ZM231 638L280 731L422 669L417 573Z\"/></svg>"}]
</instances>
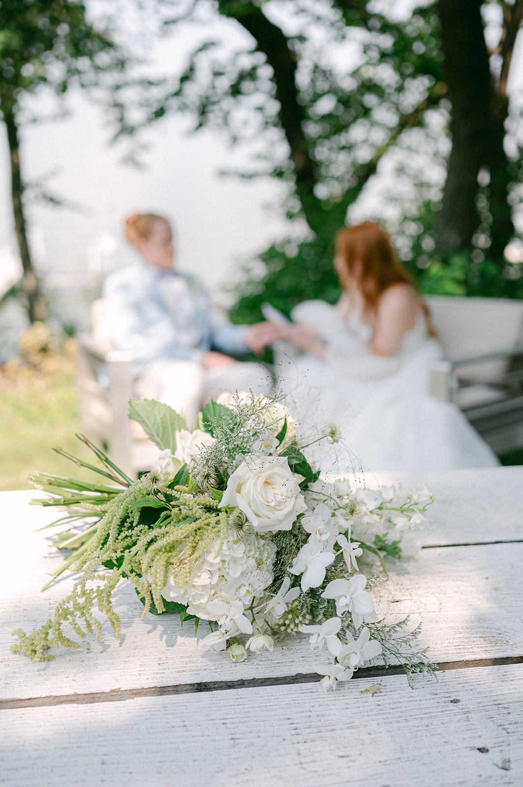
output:
<instances>
[{"instance_id":1,"label":"seated person in light blue jacket and pale trousers","mask_svg":"<svg viewBox=\"0 0 523 787\"><path fill-rule=\"evenodd\" d=\"M133 353L138 396L183 411L192 426L202 403L223 390L270 393L265 367L230 354L260 353L279 338L278 327L233 325L196 278L177 272L163 216L130 216L126 235L142 260L105 280L104 333L115 349Z\"/></svg>"}]
</instances>

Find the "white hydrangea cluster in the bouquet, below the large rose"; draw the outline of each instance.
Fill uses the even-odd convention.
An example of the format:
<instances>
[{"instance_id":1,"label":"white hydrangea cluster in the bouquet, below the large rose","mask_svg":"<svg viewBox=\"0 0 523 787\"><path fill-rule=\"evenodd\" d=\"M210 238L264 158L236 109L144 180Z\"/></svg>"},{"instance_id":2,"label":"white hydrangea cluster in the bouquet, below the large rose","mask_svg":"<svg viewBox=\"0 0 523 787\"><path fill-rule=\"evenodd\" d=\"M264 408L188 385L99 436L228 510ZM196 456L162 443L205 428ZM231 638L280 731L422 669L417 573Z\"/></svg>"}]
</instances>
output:
<instances>
[{"instance_id":1,"label":"white hydrangea cluster in the bouquet, below the large rose","mask_svg":"<svg viewBox=\"0 0 523 787\"><path fill-rule=\"evenodd\" d=\"M215 538L186 585L177 586L171 572L162 595L168 601L188 604L189 614L204 620L215 619L208 610L208 604L215 601L230 604L239 600L243 608L249 608L252 599L263 597L274 579L275 554L271 539L253 533L238 541L237 531L231 529L221 546Z\"/></svg>"}]
</instances>

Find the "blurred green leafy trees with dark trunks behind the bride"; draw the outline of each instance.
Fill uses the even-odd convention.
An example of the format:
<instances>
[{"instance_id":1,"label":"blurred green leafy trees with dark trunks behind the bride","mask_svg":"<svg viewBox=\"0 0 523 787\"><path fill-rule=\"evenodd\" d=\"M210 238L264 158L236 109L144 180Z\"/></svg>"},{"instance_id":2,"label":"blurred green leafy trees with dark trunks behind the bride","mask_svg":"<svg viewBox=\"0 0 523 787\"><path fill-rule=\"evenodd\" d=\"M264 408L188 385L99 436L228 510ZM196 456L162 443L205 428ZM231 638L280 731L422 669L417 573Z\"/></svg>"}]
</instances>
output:
<instances>
[{"instance_id":1,"label":"blurred green leafy trees with dark trunks behind the bride","mask_svg":"<svg viewBox=\"0 0 523 787\"><path fill-rule=\"evenodd\" d=\"M214 15L245 44L203 42L181 75L147 84L142 120L123 130L184 112L195 130L250 145L256 168L237 174L285 184L295 223L252 267L235 319L259 318L263 301L284 312L311 297L335 301L333 234L362 217L365 200L363 215L384 220L423 291L523 297L523 245L512 242L521 105L506 91L523 0L437 0L407 19L379 0L160 7L166 29ZM370 207L381 172L388 192Z\"/></svg>"}]
</instances>

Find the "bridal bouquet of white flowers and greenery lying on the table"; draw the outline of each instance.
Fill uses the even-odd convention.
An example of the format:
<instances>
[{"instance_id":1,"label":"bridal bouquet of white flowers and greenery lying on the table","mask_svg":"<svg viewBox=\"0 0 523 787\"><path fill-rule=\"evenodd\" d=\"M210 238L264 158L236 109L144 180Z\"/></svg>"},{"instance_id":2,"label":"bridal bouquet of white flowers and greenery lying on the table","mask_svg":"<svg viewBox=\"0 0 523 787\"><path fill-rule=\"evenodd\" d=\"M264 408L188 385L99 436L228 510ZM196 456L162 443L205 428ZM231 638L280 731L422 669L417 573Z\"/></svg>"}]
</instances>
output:
<instances>
[{"instance_id":1,"label":"bridal bouquet of white flowers and greenery lying on the table","mask_svg":"<svg viewBox=\"0 0 523 787\"><path fill-rule=\"evenodd\" d=\"M104 483L31 477L51 495L33 503L67 509L48 527L65 527L54 543L72 552L46 587L66 569L79 579L53 619L29 635L14 632L13 651L44 661L52 646L79 648L72 633L99 637L95 604L119 637L112 593L126 578L143 615L175 612L194 621L195 634L206 623L200 644L234 662L301 633L313 650L326 646L330 654L330 663L315 667L326 689L378 657L401 663L409 679L433 671L425 652L415 652L419 629L405 633L408 619L378 620L370 593L384 557L399 557L402 534L425 522L433 501L426 488L327 482L309 464L295 421L271 397L223 394L192 432L157 401L131 401L130 417L160 449L137 481L81 436L103 469L55 450ZM337 427L318 440L337 442Z\"/></svg>"}]
</instances>

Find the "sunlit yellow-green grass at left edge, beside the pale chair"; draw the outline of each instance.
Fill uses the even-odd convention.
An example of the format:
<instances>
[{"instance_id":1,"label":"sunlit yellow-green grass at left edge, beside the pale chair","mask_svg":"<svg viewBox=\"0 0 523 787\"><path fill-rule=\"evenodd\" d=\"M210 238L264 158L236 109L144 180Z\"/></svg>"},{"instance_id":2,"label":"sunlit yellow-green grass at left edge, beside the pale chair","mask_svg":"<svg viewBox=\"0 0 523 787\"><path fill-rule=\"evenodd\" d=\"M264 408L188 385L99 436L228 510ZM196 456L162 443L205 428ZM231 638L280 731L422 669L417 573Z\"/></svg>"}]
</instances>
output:
<instances>
[{"instance_id":1,"label":"sunlit yellow-green grass at left edge, beside the pale chair","mask_svg":"<svg viewBox=\"0 0 523 787\"><path fill-rule=\"evenodd\" d=\"M75 437L79 431L74 345L66 353L39 353L11 360L0 371L0 490L33 489L35 471L85 480L100 476L82 471L58 456L57 446L98 465L94 454Z\"/></svg>"}]
</instances>

